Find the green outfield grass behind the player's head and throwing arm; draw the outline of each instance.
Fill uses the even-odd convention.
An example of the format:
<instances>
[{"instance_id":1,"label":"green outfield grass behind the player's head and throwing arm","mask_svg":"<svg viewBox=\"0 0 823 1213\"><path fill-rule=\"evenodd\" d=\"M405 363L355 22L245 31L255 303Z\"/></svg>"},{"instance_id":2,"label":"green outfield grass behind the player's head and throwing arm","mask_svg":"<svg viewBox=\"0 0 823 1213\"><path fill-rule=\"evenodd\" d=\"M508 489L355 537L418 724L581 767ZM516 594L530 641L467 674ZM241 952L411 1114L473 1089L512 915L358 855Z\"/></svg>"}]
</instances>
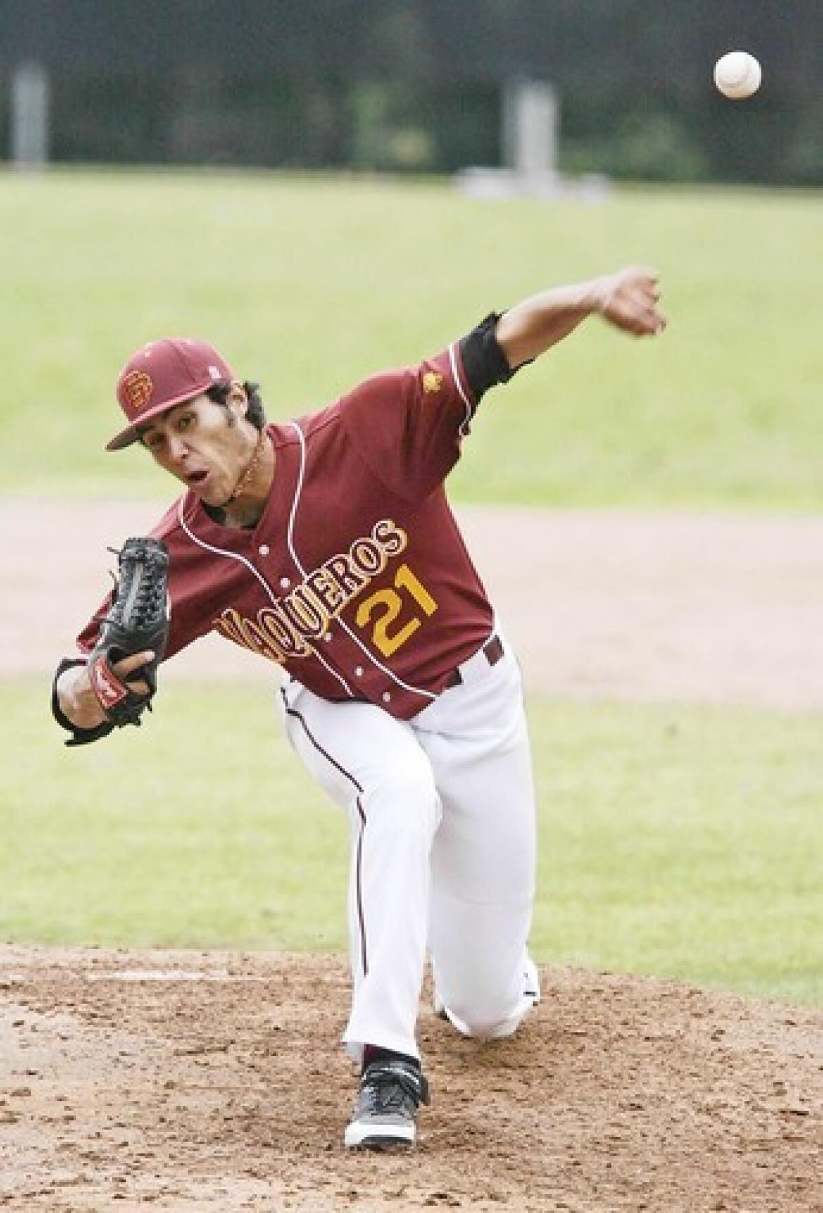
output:
<instances>
[{"instance_id":1,"label":"green outfield grass behind the player's head and throwing arm","mask_svg":"<svg viewBox=\"0 0 823 1213\"><path fill-rule=\"evenodd\" d=\"M7 492L148 494L104 455L113 383L193 334L259 378L276 417L442 348L492 308L630 261L670 329L595 321L489 398L464 500L817 508L819 195L623 190L602 206L476 201L448 182L266 173L0 177Z\"/></svg>"}]
</instances>

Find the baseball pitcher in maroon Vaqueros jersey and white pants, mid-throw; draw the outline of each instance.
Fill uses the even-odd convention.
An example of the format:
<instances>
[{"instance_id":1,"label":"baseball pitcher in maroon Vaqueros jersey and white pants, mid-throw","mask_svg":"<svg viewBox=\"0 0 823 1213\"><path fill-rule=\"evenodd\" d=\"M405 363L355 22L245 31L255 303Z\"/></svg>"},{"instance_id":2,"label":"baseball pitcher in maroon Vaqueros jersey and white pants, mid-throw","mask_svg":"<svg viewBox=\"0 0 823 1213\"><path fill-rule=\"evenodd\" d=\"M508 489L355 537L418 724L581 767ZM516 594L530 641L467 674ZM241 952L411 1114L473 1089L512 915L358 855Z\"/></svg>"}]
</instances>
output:
<instances>
[{"instance_id":1,"label":"baseball pitcher in maroon Vaqueros jersey and white pants, mid-throw","mask_svg":"<svg viewBox=\"0 0 823 1213\"><path fill-rule=\"evenodd\" d=\"M277 425L202 341L153 341L120 372L126 425L108 449L138 444L183 486L152 531L169 553L165 659L217 632L279 666L289 741L348 815L344 1042L361 1078L346 1146L416 1140L427 956L436 1009L464 1036L511 1035L540 997L520 670L443 483L489 388L592 315L660 332L658 298L642 267L551 289ZM118 689L146 690L151 650L90 679L104 611L55 679L70 744L112 730Z\"/></svg>"}]
</instances>

